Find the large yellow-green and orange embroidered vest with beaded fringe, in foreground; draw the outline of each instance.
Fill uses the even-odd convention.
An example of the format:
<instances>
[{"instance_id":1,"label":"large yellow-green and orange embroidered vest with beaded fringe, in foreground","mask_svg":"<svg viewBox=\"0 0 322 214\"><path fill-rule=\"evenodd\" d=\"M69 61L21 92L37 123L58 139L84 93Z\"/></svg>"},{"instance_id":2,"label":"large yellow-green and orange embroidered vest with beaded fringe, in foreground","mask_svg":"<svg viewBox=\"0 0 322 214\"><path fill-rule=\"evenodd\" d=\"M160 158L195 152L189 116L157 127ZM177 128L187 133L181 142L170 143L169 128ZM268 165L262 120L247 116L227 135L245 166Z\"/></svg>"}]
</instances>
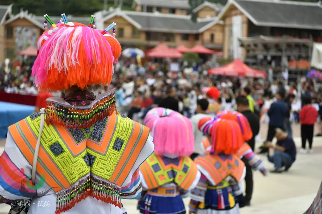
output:
<instances>
[{"instance_id":1,"label":"large yellow-green and orange embroidered vest with beaded fringe, in foreground","mask_svg":"<svg viewBox=\"0 0 322 214\"><path fill-rule=\"evenodd\" d=\"M70 106L50 98L41 135L37 172L57 194L61 213L92 196L121 208L121 185L149 136L149 129L115 110L114 90L90 106ZM62 101L63 102L63 101ZM9 131L32 165L40 112Z\"/></svg>"}]
</instances>

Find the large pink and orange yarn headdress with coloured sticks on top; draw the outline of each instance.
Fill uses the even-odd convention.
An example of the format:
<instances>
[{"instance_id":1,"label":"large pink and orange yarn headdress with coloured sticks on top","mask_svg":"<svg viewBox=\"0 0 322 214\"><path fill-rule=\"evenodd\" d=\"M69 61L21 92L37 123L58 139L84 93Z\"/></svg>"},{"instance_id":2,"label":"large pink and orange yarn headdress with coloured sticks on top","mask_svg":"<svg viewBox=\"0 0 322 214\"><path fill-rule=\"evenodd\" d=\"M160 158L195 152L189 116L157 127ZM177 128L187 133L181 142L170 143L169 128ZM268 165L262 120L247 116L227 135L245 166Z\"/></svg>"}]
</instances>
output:
<instances>
[{"instance_id":1,"label":"large pink and orange yarn headdress with coloured sticks on top","mask_svg":"<svg viewBox=\"0 0 322 214\"><path fill-rule=\"evenodd\" d=\"M71 86L81 89L93 84L109 84L113 75L113 62L121 54L115 39L116 24L105 30L95 30L94 16L89 26L68 22L65 14L55 24L48 15L44 31L38 40L38 56L32 68L35 85L43 90L62 90ZM113 36L107 31L113 28Z\"/></svg>"}]
</instances>

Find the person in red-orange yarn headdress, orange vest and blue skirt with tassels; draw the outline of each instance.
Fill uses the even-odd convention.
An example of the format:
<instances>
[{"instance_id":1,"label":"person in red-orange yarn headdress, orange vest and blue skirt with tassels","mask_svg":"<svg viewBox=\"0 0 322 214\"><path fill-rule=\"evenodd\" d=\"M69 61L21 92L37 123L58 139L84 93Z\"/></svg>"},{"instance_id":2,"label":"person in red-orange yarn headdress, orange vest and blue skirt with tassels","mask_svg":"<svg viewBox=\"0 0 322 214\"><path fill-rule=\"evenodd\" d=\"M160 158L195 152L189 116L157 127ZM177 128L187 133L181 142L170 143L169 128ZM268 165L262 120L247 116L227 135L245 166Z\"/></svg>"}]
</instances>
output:
<instances>
[{"instance_id":1,"label":"person in red-orange yarn headdress, orange vest and blue skirt with tassels","mask_svg":"<svg viewBox=\"0 0 322 214\"><path fill-rule=\"evenodd\" d=\"M201 178L191 191L190 213L237 214L239 205L235 193L245 176L245 164L235 153L242 146L242 131L237 122L203 118L198 123L209 141L209 153L195 159Z\"/></svg>"}]
</instances>

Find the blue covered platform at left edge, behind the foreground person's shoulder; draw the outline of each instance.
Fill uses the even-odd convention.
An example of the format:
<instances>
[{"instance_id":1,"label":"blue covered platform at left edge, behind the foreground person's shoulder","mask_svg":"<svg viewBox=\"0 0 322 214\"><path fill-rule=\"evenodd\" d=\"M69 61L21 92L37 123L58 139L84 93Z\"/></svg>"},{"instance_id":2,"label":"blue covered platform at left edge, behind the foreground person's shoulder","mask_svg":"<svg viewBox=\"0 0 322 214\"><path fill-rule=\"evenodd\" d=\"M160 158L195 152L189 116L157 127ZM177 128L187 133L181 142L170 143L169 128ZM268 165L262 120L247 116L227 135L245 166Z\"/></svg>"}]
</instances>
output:
<instances>
[{"instance_id":1,"label":"blue covered platform at left edge, behind the foreground person's shoulder","mask_svg":"<svg viewBox=\"0 0 322 214\"><path fill-rule=\"evenodd\" d=\"M34 106L0 101L0 139L6 137L8 126L31 115L34 109Z\"/></svg>"}]
</instances>

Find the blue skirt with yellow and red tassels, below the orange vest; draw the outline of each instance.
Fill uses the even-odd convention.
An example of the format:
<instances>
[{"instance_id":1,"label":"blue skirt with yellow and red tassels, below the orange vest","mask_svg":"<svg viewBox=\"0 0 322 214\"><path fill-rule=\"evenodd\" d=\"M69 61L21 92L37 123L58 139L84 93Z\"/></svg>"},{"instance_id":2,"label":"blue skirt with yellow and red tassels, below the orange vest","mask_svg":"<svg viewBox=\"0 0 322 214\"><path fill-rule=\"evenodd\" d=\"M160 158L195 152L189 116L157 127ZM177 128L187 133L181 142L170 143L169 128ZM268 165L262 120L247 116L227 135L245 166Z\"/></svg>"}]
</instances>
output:
<instances>
[{"instance_id":1,"label":"blue skirt with yellow and red tassels, below the orange vest","mask_svg":"<svg viewBox=\"0 0 322 214\"><path fill-rule=\"evenodd\" d=\"M230 187L207 189L196 214L239 214L239 206Z\"/></svg>"}]
</instances>

